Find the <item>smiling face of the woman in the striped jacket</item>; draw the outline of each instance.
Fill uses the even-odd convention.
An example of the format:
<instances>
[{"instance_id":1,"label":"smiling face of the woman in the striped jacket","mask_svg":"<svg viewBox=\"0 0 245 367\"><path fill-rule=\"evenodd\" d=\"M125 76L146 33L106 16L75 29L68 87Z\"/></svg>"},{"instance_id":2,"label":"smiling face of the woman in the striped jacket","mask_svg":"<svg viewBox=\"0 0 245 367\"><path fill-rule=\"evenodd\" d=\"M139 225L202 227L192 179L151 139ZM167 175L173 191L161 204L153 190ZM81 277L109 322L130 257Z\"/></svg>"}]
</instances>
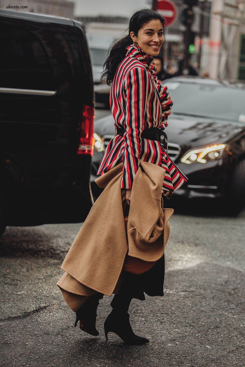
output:
<instances>
[{"instance_id":1,"label":"smiling face of the woman in the striped jacket","mask_svg":"<svg viewBox=\"0 0 245 367\"><path fill-rule=\"evenodd\" d=\"M137 37L134 32L130 32L130 36L146 54L157 56L164 42L162 23L159 19L149 21L140 28Z\"/></svg>"}]
</instances>

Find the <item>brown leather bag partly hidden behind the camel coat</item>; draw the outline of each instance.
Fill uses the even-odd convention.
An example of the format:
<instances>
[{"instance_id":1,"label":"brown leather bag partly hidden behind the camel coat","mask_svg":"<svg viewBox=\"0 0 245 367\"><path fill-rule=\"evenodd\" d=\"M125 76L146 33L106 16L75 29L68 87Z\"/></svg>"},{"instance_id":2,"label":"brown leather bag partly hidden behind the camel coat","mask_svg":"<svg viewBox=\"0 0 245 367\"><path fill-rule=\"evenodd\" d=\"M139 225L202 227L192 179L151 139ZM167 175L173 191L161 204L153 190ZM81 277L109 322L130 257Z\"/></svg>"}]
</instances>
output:
<instances>
[{"instance_id":1,"label":"brown leather bag partly hidden behind the camel coat","mask_svg":"<svg viewBox=\"0 0 245 367\"><path fill-rule=\"evenodd\" d=\"M124 223L125 230L127 236L127 221L129 218L129 205L127 204L126 199L122 201L123 206L123 215L124 215ZM129 256L128 254L125 257L125 261L123 264L123 270L126 272L134 273L134 274L142 274L147 272L147 270L151 269L153 265L156 264L156 261L144 261L138 259L136 257Z\"/></svg>"}]
</instances>

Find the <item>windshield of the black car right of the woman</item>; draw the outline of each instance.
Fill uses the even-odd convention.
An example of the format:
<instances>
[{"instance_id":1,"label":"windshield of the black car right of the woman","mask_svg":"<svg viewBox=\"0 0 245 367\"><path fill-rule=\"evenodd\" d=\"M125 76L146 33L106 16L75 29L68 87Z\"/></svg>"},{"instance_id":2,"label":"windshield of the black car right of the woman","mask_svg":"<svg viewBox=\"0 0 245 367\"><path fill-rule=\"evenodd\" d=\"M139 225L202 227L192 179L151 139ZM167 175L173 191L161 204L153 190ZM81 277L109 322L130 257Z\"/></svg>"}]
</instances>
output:
<instances>
[{"instance_id":1,"label":"windshield of the black car right of the woman","mask_svg":"<svg viewBox=\"0 0 245 367\"><path fill-rule=\"evenodd\" d=\"M172 113L245 123L245 90L223 86L166 81Z\"/></svg>"}]
</instances>

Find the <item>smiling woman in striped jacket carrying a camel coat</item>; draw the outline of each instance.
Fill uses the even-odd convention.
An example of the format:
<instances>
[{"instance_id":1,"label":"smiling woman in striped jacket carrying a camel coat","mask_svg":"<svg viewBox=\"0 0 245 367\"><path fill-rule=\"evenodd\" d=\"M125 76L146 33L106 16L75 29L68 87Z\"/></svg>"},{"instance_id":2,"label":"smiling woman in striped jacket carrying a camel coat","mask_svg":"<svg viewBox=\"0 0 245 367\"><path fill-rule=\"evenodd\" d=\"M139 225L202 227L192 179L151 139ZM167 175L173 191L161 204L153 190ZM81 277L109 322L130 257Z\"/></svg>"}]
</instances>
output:
<instances>
[{"instance_id":1,"label":"smiling woman in striped jacket carrying a camel coat","mask_svg":"<svg viewBox=\"0 0 245 367\"><path fill-rule=\"evenodd\" d=\"M137 11L130 19L129 34L110 49L102 77L112 84L116 135L97 172L101 177L96 183L104 191L72 244L62 264L66 273L57 283L76 312L76 323L80 321L80 329L91 335L98 335L100 299L114 293L105 336L116 333L130 345L149 342L131 328L131 299L145 300L144 293L163 295L164 248L173 210L163 209L162 195L170 197L187 181L167 155L162 138L173 104L154 67L164 42L164 22L153 10ZM127 233L125 200L130 205L125 205L129 208ZM136 269L127 268L125 257L136 261ZM143 263L149 267L144 272L139 271Z\"/></svg>"}]
</instances>

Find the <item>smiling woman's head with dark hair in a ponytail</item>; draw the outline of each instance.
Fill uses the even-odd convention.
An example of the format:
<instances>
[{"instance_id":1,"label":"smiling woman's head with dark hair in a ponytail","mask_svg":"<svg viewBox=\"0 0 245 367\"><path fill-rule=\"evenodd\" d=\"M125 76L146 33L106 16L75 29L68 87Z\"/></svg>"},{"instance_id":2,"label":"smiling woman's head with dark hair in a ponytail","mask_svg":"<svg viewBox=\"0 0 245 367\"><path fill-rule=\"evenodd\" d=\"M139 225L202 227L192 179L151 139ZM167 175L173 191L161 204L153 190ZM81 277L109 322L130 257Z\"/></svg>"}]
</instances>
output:
<instances>
[{"instance_id":1,"label":"smiling woman's head with dark hair in a ponytail","mask_svg":"<svg viewBox=\"0 0 245 367\"><path fill-rule=\"evenodd\" d=\"M136 11L130 18L128 35L115 41L110 47L101 79L106 79L107 84L112 83L119 63L125 58L125 48L132 43L138 44L146 54L157 56L164 42L164 22L165 18L154 10Z\"/></svg>"}]
</instances>

